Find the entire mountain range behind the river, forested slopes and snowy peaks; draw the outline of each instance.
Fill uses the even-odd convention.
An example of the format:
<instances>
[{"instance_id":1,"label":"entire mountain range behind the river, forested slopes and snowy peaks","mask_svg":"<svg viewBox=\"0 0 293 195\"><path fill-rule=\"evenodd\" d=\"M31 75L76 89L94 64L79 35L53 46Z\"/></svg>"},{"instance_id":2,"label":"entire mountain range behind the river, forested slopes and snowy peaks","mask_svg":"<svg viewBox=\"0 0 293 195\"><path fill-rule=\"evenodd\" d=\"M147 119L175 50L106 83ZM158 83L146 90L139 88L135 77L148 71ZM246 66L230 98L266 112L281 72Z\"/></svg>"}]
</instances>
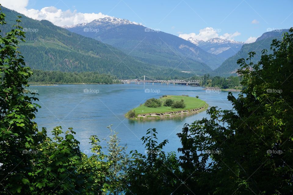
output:
<instances>
[{"instance_id":1,"label":"entire mountain range behind the river, forested slopes and snowy peaks","mask_svg":"<svg viewBox=\"0 0 293 195\"><path fill-rule=\"evenodd\" d=\"M253 61L257 62L263 49L269 51L274 38L288 32L266 32L251 44L220 38L184 40L126 19L106 17L57 27L5 7L1 11L7 23L1 26L2 36L16 24L17 16L22 16L26 42L20 44L20 51L32 69L97 71L122 78L187 78L205 73L229 76L239 68L237 59L256 51Z\"/></svg>"}]
</instances>

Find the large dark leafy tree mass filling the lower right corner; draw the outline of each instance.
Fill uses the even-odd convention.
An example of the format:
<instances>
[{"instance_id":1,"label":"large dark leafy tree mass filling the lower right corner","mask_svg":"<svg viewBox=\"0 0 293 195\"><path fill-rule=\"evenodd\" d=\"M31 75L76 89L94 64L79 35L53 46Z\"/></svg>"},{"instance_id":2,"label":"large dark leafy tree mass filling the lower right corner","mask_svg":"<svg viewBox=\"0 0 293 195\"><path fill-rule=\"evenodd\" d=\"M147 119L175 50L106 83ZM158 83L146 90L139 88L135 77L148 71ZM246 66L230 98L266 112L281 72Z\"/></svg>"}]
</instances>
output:
<instances>
[{"instance_id":1,"label":"large dark leafy tree mass filling the lower right corner","mask_svg":"<svg viewBox=\"0 0 293 195\"><path fill-rule=\"evenodd\" d=\"M292 33L273 40L272 54L263 50L257 64L255 52L237 61L244 89L237 98L229 93L233 110L212 107L210 119L178 134L183 176L196 173L185 183L194 193L293 193Z\"/></svg>"}]
</instances>

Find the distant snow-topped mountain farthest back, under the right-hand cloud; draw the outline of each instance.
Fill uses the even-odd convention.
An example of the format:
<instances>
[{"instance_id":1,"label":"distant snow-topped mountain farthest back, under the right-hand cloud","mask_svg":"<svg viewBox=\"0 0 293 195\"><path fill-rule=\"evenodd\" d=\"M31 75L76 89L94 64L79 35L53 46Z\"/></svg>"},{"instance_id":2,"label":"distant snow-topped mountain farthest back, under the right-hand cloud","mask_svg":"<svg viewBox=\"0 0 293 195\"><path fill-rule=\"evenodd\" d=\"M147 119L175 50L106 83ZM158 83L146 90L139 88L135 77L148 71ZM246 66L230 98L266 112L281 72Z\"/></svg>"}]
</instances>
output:
<instances>
[{"instance_id":1,"label":"distant snow-topped mountain farthest back, under the right-hand cloud","mask_svg":"<svg viewBox=\"0 0 293 195\"><path fill-rule=\"evenodd\" d=\"M204 51L221 56L225 59L236 54L244 44L244 42L226 40L218 37L211 38L208 41L197 40L193 37L189 37L186 40L202 48Z\"/></svg>"}]
</instances>

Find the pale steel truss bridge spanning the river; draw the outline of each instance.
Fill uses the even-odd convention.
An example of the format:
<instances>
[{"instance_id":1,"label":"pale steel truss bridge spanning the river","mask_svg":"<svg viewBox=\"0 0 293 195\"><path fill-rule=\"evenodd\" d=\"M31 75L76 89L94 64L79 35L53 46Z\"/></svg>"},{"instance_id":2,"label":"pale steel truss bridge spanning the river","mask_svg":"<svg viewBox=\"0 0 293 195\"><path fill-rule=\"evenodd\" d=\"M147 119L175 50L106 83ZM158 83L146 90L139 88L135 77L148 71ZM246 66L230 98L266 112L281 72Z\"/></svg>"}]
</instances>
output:
<instances>
[{"instance_id":1,"label":"pale steel truss bridge spanning the river","mask_svg":"<svg viewBox=\"0 0 293 195\"><path fill-rule=\"evenodd\" d=\"M192 77L188 78L188 79L184 79L184 80L157 80L157 79L153 79L150 78L148 76L141 76L137 79L121 79L121 83L180 83L180 84L193 84L193 83L200 83L201 80L191 80Z\"/></svg>"}]
</instances>

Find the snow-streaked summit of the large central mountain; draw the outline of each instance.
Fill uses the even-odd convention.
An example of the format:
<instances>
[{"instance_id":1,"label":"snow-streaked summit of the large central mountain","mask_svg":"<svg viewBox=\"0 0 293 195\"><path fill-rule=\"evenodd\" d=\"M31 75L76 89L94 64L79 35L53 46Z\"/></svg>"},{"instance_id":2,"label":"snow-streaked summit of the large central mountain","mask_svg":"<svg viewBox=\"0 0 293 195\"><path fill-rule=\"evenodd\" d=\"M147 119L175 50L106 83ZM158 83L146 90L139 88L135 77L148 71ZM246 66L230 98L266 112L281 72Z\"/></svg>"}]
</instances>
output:
<instances>
[{"instance_id":1,"label":"snow-streaked summit of the large central mountain","mask_svg":"<svg viewBox=\"0 0 293 195\"><path fill-rule=\"evenodd\" d=\"M126 25L126 24L135 24L135 25L141 25L136 22L131 22L127 19L121 19L121 18L115 18L115 17L105 17L105 18L99 18L99 19L94 19L93 21L89 23L81 23L81 24L76 24L76 25L67 25L63 26L63 28L74 28L74 27L85 27L85 26L108 26L108 25L113 25L113 26L119 26L119 25ZM142 25L141 25L142 26Z\"/></svg>"}]
</instances>

